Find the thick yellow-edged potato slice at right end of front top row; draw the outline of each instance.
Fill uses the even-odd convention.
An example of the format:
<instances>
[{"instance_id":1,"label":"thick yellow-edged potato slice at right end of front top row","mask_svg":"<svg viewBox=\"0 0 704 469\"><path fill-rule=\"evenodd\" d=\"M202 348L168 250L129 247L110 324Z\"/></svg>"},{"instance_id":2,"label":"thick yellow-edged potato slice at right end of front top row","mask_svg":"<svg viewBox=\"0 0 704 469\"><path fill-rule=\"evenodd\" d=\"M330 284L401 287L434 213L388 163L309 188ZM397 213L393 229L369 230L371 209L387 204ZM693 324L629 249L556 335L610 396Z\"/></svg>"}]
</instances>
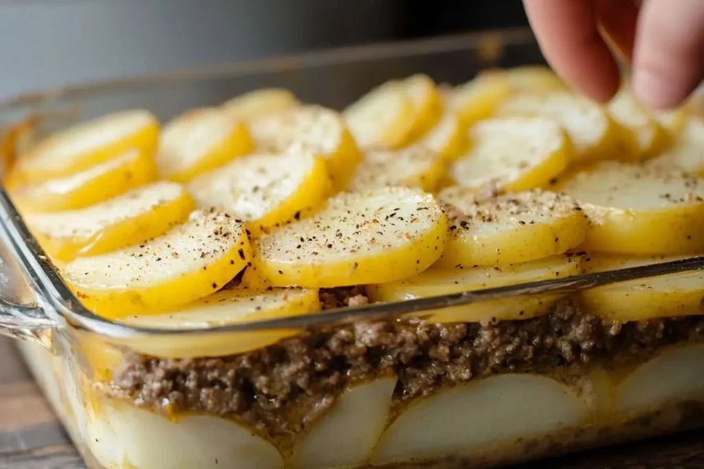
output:
<instances>
[{"instance_id":1,"label":"thick yellow-edged potato slice at right end of front top row","mask_svg":"<svg viewBox=\"0 0 704 469\"><path fill-rule=\"evenodd\" d=\"M585 250L628 255L704 250L704 181L680 172L601 162L558 188L589 217Z\"/></svg>"}]
</instances>

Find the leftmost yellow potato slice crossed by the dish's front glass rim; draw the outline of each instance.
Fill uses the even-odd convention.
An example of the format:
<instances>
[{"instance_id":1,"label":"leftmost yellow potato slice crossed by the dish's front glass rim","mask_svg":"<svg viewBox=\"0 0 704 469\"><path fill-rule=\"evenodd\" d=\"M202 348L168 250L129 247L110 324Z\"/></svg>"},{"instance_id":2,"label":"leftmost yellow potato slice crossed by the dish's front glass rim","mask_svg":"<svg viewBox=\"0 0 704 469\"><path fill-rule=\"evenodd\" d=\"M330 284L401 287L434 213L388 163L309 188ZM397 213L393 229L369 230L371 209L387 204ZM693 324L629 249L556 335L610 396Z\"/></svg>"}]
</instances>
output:
<instances>
[{"instance_id":1,"label":"leftmost yellow potato slice crossed by the dish's front glass rim","mask_svg":"<svg viewBox=\"0 0 704 469\"><path fill-rule=\"evenodd\" d=\"M233 288L191 302L163 314L126 316L120 321L130 326L161 329L196 329L298 316L320 311L318 290L272 288L250 290ZM149 338L138 346L139 352L156 356L223 356L266 347L296 330L256 330L212 337L195 335L177 338ZM134 345L134 344L133 344Z\"/></svg>"}]
</instances>

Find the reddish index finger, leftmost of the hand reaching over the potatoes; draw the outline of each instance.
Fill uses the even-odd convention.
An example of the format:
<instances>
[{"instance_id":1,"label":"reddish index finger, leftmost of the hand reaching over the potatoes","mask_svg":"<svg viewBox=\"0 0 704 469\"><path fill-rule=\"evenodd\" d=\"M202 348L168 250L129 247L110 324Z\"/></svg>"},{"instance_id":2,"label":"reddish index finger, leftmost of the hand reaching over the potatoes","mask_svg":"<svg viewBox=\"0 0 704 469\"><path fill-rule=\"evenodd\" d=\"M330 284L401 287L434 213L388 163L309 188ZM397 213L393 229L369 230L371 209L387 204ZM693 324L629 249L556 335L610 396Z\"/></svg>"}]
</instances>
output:
<instances>
[{"instance_id":1,"label":"reddish index finger, leftmost of the hand reaching over the potatoes","mask_svg":"<svg viewBox=\"0 0 704 469\"><path fill-rule=\"evenodd\" d=\"M588 0L523 0L543 55L555 72L598 101L608 101L620 73Z\"/></svg>"}]
</instances>

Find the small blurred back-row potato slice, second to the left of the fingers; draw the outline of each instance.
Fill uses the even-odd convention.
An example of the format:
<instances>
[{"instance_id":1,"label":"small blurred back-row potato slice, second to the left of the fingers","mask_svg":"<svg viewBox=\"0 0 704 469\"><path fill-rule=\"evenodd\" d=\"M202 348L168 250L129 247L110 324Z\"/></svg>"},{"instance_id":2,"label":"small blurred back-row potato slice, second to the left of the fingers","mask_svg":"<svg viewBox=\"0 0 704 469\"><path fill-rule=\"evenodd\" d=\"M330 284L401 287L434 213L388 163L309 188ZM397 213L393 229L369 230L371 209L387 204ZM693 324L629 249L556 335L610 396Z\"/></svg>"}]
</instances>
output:
<instances>
[{"instance_id":1,"label":"small blurred back-row potato slice, second to the left of the fingers","mask_svg":"<svg viewBox=\"0 0 704 469\"><path fill-rule=\"evenodd\" d=\"M469 126L492 117L512 93L513 88L503 75L484 73L450 91L445 103Z\"/></svg>"}]
</instances>

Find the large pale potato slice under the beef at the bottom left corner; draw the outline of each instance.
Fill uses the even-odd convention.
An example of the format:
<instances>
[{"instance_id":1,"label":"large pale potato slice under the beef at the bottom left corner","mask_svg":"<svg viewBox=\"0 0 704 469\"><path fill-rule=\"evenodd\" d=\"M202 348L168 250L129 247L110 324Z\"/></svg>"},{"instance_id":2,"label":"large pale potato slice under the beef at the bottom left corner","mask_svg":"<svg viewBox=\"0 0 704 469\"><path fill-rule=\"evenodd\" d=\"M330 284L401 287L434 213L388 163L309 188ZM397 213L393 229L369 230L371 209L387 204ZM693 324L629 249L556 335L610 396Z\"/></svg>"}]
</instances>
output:
<instances>
[{"instance_id":1,"label":"large pale potato slice under the beef at the bottom left corner","mask_svg":"<svg viewBox=\"0 0 704 469\"><path fill-rule=\"evenodd\" d=\"M85 443L106 468L284 469L279 451L251 429L217 416L178 420L95 397Z\"/></svg>"}]
</instances>

